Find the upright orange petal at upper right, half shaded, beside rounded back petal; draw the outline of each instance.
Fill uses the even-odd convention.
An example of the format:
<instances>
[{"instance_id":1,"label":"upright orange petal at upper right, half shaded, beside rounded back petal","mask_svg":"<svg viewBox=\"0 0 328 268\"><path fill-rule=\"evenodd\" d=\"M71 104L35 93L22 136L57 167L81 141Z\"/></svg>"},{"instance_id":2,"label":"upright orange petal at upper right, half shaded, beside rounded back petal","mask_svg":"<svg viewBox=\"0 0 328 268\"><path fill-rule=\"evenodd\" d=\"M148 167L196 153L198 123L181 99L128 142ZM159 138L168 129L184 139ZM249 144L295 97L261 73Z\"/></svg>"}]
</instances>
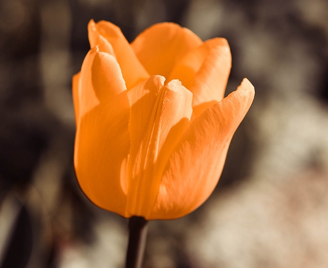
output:
<instances>
[{"instance_id":1,"label":"upright orange petal at upper right, half shaded, beside rounded back petal","mask_svg":"<svg viewBox=\"0 0 328 268\"><path fill-rule=\"evenodd\" d=\"M169 79L179 79L193 93L194 115L222 100L231 69L228 41L214 38L179 60Z\"/></svg>"}]
</instances>

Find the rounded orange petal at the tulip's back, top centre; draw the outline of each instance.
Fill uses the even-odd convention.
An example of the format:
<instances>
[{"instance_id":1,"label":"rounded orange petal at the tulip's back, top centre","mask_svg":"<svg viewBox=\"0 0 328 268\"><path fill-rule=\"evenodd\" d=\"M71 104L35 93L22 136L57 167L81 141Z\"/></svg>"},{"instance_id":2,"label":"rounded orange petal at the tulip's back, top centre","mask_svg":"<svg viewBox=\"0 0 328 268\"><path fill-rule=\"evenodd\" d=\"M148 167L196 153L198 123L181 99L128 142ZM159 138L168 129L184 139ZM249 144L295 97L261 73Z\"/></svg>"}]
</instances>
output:
<instances>
[{"instance_id":1,"label":"rounded orange petal at the tulip's back, top centre","mask_svg":"<svg viewBox=\"0 0 328 268\"><path fill-rule=\"evenodd\" d=\"M190 30L173 23L161 23L140 33L131 46L150 75L168 77L175 63L201 43Z\"/></svg>"}]
</instances>

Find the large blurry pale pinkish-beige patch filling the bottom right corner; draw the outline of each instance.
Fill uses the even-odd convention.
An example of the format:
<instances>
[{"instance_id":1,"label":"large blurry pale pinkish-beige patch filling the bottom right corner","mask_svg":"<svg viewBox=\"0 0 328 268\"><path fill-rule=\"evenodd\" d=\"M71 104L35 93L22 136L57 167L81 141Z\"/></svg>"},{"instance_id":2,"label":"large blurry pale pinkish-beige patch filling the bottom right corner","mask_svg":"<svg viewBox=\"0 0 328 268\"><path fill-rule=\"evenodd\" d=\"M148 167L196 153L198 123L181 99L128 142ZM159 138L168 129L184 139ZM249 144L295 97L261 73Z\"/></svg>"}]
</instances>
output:
<instances>
[{"instance_id":1,"label":"large blurry pale pinkish-beige patch filling the bottom right corner","mask_svg":"<svg viewBox=\"0 0 328 268\"><path fill-rule=\"evenodd\" d=\"M325 268L328 177L252 181L213 199L186 234L195 268ZM205 228L203 228L205 227Z\"/></svg>"}]
</instances>

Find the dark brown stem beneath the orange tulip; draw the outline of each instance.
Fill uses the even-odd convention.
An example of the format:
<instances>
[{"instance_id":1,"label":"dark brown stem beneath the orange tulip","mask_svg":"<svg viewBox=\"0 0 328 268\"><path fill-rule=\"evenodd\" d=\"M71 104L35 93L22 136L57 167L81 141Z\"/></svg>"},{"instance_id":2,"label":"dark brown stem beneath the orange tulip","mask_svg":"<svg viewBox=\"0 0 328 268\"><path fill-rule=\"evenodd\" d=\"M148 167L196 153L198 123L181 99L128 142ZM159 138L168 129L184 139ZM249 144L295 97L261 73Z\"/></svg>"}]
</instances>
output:
<instances>
[{"instance_id":1,"label":"dark brown stem beneath the orange tulip","mask_svg":"<svg viewBox=\"0 0 328 268\"><path fill-rule=\"evenodd\" d=\"M148 221L143 217L133 216L129 220L129 245L126 268L140 268L144 258Z\"/></svg>"}]
</instances>

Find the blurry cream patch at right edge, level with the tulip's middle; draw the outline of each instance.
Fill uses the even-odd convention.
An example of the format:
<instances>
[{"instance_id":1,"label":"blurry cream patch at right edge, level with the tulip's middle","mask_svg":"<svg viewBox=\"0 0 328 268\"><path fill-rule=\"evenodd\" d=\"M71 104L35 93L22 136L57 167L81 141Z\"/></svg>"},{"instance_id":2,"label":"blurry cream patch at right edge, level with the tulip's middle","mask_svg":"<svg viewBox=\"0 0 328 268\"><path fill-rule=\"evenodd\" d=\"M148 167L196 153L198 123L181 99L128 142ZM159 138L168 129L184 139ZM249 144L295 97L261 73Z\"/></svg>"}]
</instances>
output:
<instances>
[{"instance_id":1,"label":"blurry cream patch at right edge, level with the tulip's middle","mask_svg":"<svg viewBox=\"0 0 328 268\"><path fill-rule=\"evenodd\" d=\"M272 100L261 107L258 130L253 133L258 151L253 176L273 181L318 166L328 172L328 110L310 97Z\"/></svg>"}]
</instances>

